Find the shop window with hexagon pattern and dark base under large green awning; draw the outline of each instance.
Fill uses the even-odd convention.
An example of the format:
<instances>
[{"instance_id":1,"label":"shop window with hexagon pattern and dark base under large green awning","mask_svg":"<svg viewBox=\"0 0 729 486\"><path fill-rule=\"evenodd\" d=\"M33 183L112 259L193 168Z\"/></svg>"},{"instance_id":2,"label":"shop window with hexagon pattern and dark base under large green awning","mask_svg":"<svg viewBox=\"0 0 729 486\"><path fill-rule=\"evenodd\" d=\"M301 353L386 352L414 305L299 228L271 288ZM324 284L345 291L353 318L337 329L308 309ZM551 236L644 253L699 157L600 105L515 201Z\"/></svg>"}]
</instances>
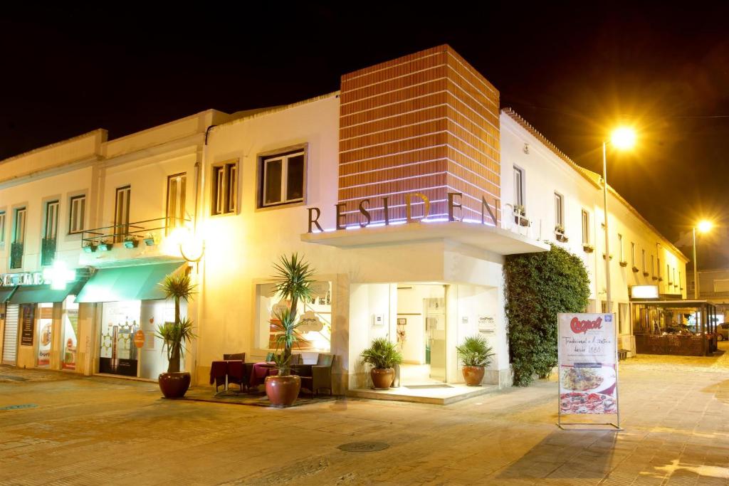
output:
<instances>
[{"instance_id":1,"label":"shop window with hexagon pattern and dark base under large green awning","mask_svg":"<svg viewBox=\"0 0 729 486\"><path fill-rule=\"evenodd\" d=\"M137 375L134 333L139 330L141 301L104 302L99 340L100 373Z\"/></svg>"}]
</instances>

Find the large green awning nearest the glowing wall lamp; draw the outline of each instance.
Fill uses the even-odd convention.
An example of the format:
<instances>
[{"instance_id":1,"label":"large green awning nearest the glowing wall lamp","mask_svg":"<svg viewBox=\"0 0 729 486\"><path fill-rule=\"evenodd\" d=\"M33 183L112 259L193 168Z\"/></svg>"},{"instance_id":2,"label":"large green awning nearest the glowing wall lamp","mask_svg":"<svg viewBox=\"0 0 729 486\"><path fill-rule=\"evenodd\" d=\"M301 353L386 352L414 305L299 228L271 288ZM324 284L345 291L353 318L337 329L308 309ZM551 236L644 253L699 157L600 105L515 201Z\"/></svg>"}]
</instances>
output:
<instances>
[{"instance_id":1,"label":"large green awning nearest the glowing wall lamp","mask_svg":"<svg viewBox=\"0 0 729 486\"><path fill-rule=\"evenodd\" d=\"M81 289L76 302L164 299L159 283L180 266L180 262L171 262L98 270Z\"/></svg>"}]
</instances>

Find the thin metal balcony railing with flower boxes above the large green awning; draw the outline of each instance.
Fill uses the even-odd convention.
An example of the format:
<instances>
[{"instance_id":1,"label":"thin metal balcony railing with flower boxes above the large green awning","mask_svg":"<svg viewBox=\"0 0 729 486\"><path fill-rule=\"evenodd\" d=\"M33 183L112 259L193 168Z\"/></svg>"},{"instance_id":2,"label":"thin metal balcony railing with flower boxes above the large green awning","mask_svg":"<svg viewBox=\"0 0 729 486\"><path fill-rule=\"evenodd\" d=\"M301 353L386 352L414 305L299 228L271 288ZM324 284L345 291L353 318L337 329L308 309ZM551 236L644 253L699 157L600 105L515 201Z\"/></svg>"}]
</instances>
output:
<instances>
[{"instance_id":1,"label":"thin metal balcony railing with flower boxes above the large green awning","mask_svg":"<svg viewBox=\"0 0 729 486\"><path fill-rule=\"evenodd\" d=\"M85 251L96 251L97 248L108 250L114 243L136 247L144 240L152 244L151 240L158 241L161 233L183 227L187 222L190 220L164 217L85 230L81 233L81 246Z\"/></svg>"}]
</instances>

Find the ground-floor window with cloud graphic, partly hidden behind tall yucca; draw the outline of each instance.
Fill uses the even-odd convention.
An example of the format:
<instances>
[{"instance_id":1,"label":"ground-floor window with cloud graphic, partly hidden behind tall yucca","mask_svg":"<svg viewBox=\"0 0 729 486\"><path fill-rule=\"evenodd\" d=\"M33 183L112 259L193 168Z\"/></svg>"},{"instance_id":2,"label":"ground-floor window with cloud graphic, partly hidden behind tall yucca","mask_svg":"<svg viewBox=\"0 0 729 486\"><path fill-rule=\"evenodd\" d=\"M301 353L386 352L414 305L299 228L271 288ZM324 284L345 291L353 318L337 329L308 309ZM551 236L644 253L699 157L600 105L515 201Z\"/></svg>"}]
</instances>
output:
<instances>
[{"instance_id":1,"label":"ground-floor window with cloud graphic, partly hidden behind tall yucca","mask_svg":"<svg viewBox=\"0 0 729 486\"><path fill-rule=\"evenodd\" d=\"M295 350L328 353L332 337L332 284L315 282L311 290L311 298L298 304L297 313L302 325L298 328L301 339ZM257 347L274 349L278 324L276 313L290 307L291 302L276 294L273 284L269 283L256 286L256 299Z\"/></svg>"}]
</instances>

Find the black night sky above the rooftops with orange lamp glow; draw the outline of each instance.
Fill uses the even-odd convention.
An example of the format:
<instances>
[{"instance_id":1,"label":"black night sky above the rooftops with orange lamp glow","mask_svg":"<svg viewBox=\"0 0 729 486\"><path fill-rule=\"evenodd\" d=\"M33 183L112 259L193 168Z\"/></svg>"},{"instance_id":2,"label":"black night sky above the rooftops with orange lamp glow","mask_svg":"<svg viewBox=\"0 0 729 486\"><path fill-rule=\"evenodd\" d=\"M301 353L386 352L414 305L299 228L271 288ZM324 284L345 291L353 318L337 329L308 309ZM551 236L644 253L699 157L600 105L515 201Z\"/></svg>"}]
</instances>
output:
<instances>
[{"instance_id":1,"label":"black night sky above the rooftops with orange lamp glow","mask_svg":"<svg viewBox=\"0 0 729 486\"><path fill-rule=\"evenodd\" d=\"M601 171L609 127L634 123L640 146L608 153L608 179L669 239L702 216L725 223L727 7L252 3L4 7L0 158L95 128L116 138L204 109L300 101L448 43L585 168Z\"/></svg>"}]
</instances>

